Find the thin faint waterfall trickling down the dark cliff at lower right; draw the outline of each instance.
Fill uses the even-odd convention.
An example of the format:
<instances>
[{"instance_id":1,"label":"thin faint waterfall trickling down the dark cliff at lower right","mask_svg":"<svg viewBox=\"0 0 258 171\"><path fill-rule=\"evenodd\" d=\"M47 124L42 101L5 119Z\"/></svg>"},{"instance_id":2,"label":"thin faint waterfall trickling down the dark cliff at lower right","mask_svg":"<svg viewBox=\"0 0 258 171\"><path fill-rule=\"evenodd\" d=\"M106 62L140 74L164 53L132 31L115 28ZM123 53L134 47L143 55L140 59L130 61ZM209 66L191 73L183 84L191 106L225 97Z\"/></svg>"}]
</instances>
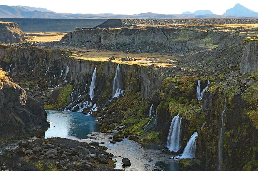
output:
<instances>
[{"instance_id":1,"label":"thin faint waterfall trickling down the dark cliff at lower right","mask_svg":"<svg viewBox=\"0 0 258 171\"><path fill-rule=\"evenodd\" d=\"M220 133L219 133L219 140L218 140L218 158L219 158L219 168L218 170L222 170L222 147L223 147L223 139L225 135L225 119L226 119L226 99L225 99L225 106L221 113L220 121L221 121L221 127L220 127Z\"/></svg>"}]
</instances>

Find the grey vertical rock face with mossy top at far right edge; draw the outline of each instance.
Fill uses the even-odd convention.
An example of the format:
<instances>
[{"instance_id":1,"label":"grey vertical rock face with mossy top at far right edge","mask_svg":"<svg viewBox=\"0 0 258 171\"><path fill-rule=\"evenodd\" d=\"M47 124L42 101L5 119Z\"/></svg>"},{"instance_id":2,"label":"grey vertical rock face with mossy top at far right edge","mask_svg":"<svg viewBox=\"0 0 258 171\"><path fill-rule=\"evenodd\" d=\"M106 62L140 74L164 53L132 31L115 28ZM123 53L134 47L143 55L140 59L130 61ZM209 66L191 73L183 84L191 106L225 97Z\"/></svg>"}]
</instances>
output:
<instances>
[{"instance_id":1,"label":"grey vertical rock face with mossy top at far right edge","mask_svg":"<svg viewBox=\"0 0 258 171\"><path fill-rule=\"evenodd\" d=\"M240 72L258 71L258 37L244 43Z\"/></svg>"}]
</instances>

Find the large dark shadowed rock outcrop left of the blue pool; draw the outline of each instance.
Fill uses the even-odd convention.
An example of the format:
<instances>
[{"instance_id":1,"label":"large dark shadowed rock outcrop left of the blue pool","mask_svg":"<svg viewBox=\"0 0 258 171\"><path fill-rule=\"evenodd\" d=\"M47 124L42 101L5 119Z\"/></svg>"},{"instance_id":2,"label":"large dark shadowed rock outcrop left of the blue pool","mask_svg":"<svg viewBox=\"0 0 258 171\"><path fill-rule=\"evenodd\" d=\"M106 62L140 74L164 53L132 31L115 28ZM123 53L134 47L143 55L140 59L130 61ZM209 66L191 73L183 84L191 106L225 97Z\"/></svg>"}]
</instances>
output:
<instances>
[{"instance_id":1,"label":"large dark shadowed rock outcrop left of the blue pool","mask_svg":"<svg viewBox=\"0 0 258 171\"><path fill-rule=\"evenodd\" d=\"M0 137L12 137L47 128L43 103L26 95L24 89L11 82L7 72L0 70Z\"/></svg>"}]
</instances>

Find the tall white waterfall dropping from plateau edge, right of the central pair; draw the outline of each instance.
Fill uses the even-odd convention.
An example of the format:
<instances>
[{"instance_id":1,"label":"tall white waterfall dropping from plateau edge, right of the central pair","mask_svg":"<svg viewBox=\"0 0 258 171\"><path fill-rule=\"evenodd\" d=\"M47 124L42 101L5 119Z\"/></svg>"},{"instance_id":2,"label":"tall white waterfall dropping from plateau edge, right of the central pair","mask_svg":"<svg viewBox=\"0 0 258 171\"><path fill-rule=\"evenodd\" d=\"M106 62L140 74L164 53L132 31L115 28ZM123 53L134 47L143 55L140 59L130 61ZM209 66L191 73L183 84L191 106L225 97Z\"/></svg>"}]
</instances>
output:
<instances>
[{"instance_id":1,"label":"tall white waterfall dropping from plateau edge, right of the central pair","mask_svg":"<svg viewBox=\"0 0 258 171\"><path fill-rule=\"evenodd\" d=\"M113 82L113 98L119 97L119 95L124 95L124 90L122 89L122 73L121 64L118 64L115 70L115 77Z\"/></svg>"}]
</instances>

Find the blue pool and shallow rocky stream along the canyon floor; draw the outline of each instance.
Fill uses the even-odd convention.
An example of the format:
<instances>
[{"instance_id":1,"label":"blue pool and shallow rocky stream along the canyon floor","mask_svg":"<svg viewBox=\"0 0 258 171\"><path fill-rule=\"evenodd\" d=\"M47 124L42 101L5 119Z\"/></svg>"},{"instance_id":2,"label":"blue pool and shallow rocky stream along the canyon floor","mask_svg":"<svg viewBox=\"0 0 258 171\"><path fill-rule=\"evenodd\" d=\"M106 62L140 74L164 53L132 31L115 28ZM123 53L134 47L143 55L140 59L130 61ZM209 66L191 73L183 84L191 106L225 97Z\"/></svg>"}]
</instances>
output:
<instances>
[{"instance_id":1,"label":"blue pool and shallow rocky stream along the canyon floor","mask_svg":"<svg viewBox=\"0 0 258 171\"><path fill-rule=\"evenodd\" d=\"M133 140L124 138L117 144L110 143L111 133L99 133L96 117L78 112L46 110L50 128L45 133L48 137L63 137L81 142L104 142L100 144L108 147L107 152L114 155L115 169L130 171L163 171L180 170L178 160L173 156L162 154L160 150L143 148ZM130 167L123 167L122 158L127 157L131 161Z\"/></svg>"}]
</instances>

